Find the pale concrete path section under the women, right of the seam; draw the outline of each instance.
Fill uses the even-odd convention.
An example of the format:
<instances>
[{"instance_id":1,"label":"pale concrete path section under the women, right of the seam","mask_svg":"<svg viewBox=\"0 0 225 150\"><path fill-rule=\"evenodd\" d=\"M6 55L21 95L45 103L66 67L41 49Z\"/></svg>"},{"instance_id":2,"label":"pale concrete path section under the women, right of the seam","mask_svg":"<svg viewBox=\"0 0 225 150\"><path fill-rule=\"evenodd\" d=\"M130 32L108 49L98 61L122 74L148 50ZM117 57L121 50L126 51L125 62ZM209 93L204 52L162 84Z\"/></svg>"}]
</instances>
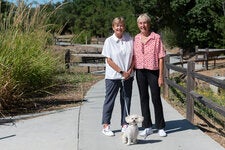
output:
<instances>
[{"instance_id":1,"label":"pale concrete path section under the women, right of the seam","mask_svg":"<svg viewBox=\"0 0 225 150\"><path fill-rule=\"evenodd\" d=\"M78 150L224 150L201 130L184 119L174 108L163 100L166 119L167 137L159 137L157 133L146 139L139 137L139 143L127 146L121 141L119 94L113 111L111 129L114 137L106 137L101 133L102 105L105 96L104 80L98 82L87 93L88 102L81 107ZM151 104L152 106L152 104ZM153 108L151 109L153 112ZM134 81L131 114L141 114L139 95ZM152 118L154 118L152 114ZM153 120L154 122L154 120Z\"/></svg>"}]
</instances>

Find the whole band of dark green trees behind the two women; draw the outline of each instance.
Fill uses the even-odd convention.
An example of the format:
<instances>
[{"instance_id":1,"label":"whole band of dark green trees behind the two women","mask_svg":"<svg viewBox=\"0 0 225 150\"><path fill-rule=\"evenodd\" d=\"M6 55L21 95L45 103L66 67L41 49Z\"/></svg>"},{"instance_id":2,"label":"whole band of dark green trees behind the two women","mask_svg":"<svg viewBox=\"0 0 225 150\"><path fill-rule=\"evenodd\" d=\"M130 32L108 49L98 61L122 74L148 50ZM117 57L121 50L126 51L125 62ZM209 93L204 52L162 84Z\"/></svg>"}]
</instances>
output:
<instances>
[{"instance_id":1,"label":"whole band of dark green trees behind the two women","mask_svg":"<svg viewBox=\"0 0 225 150\"><path fill-rule=\"evenodd\" d=\"M60 4L48 5L54 9ZM167 46L224 48L224 5L225 0L64 0L50 23L54 31L60 28L60 34L73 33L79 35L77 42L84 42L85 37L109 36L117 16L125 18L127 32L134 36L138 15L148 13L152 30Z\"/></svg>"}]
</instances>

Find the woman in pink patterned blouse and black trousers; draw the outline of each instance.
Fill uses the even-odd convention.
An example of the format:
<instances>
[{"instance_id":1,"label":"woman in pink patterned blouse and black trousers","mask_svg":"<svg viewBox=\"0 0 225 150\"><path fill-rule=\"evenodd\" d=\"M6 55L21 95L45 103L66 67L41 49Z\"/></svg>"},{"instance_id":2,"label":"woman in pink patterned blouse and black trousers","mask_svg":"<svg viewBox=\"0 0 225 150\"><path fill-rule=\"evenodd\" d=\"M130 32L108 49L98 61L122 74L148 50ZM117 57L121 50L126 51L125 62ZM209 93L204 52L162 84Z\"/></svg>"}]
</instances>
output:
<instances>
[{"instance_id":1,"label":"woman in pink patterned blouse and black trousers","mask_svg":"<svg viewBox=\"0 0 225 150\"><path fill-rule=\"evenodd\" d=\"M134 63L140 95L141 112L144 117L141 136L147 137L153 133L149 108L149 89L155 113L155 127L159 136L166 136L163 107L160 97L160 87L163 85L163 62L165 50L160 35L150 30L150 17L141 14L137 18L140 33L134 38Z\"/></svg>"}]
</instances>

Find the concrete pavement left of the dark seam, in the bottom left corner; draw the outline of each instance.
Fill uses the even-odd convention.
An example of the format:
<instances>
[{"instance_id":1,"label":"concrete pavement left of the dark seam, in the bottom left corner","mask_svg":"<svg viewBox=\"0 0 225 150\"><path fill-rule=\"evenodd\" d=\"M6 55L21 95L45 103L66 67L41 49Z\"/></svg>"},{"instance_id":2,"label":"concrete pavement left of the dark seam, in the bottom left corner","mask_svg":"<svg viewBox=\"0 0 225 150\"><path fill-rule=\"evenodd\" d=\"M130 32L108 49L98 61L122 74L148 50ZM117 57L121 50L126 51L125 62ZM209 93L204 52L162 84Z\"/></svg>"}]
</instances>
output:
<instances>
[{"instance_id":1,"label":"concrete pavement left of the dark seam, in the bottom left corner","mask_svg":"<svg viewBox=\"0 0 225 150\"><path fill-rule=\"evenodd\" d=\"M79 107L17 116L0 125L0 150L76 150Z\"/></svg>"}]
</instances>

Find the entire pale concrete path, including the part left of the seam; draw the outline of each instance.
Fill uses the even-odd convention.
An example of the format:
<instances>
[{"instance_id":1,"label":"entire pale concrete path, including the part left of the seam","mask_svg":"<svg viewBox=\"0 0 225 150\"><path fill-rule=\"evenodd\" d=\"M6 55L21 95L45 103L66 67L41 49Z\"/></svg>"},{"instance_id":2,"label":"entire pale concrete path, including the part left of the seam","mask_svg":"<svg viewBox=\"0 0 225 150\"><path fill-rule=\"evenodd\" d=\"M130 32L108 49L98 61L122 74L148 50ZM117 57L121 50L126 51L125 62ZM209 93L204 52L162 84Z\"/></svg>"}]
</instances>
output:
<instances>
[{"instance_id":1,"label":"entire pale concrete path, including the part left of the seam","mask_svg":"<svg viewBox=\"0 0 225 150\"><path fill-rule=\"evenodd\" d=\"M139 143L127 146L121 142L120 109L116 100L112 118L114 137L101 133L104 80L87 93L87 102L81 107L44 114L18 116L16 126L0 125L1 150L224 150L209 136L191 125L163 100L167 137L157 133ZM118 95L119 96L119 95ZM131 113L140 114L136 81ZM31 117L31 118L27 118ZM25 119L26 118L26 119Z\"/></svg>"}]
</instances>

